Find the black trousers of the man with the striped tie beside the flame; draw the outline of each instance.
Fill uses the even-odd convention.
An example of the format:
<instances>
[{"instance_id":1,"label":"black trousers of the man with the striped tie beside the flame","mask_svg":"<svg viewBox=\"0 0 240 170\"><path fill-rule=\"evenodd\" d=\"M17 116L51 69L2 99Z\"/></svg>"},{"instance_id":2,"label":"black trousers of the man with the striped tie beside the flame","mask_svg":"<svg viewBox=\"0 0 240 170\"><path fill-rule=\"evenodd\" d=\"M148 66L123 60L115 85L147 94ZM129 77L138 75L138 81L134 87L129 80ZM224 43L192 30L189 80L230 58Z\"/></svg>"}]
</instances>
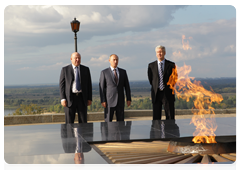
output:
<instances>
[{"instance_id":1,"label":"black trousers of the man with the striped tie beside the flame","mask_svg":"<svg viewBox=\"0 0 240 170\"><path fill-rule=\"evenodd\" d=\"M153 120L162 119L162 105L164 106L166 120L175 119L174 101L167 98L165 90L158 89L155 103L153 103Z\"/></svg>"}]
</instances>

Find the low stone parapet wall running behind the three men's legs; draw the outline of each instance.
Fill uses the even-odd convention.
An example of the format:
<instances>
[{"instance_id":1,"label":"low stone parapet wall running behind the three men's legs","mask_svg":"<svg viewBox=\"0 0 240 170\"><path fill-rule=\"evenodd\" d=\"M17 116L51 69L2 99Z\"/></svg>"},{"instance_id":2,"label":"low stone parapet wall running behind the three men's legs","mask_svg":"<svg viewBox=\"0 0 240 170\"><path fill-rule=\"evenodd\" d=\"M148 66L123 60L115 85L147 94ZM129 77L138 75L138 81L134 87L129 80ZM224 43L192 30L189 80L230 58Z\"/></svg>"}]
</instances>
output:
<instances>
[{"instance_id":1,"label":"low stone parapet wall running behind the three men's legs","mask_svg":"<svg viewBox=\"0 0 240 170\"><path fill-rule=\"evenodd\" d=\"M195 110L196 112L198 110ZM215 109L215 114L237 114L238 109ZM163 111L163 116L165 115ZM175 115L193 115L190 109L176 109ZM152 110L125 110L125 118L144 118L152 117ZM88 121L104 121L103 112L89 112ZM114 116L115 119L115 116ZM77 123L77 116L75 122ZM42 115L22 115L22 116L4 116L4 125L19 124L38 124L38 123L65 123L64 113L58 114L42 114Z\"/></svg>"}]
</instances>

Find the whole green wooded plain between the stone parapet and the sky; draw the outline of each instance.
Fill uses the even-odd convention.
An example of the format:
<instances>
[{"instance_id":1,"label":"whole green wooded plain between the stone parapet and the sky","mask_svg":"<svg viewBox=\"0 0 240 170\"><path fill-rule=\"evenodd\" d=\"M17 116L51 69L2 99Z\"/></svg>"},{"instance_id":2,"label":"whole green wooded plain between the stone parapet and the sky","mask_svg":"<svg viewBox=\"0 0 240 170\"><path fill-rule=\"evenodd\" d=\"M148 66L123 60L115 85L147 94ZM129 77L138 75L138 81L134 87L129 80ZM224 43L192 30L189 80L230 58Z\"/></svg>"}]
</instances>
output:
<instances>
[{"instance_id":1,"label":"whole green wooded plain between the stone parapet and the sky","mask_svg":"<svg viewBox=\"0 0 240 170\"><path fill-rule=\"evenodd\" d=\"M216 109L238 107L238 78L215 78L215 79L195 79L201 81L205 89L210 90L210 86L216 93L223 95L224 100L220 104L213 103ZM150 99L150 84L148 81L130 82L132 93L132 104L125 109L152 109ZM231 94L230 94L231 93ZM177 99L175 109L191 109L193 107L193 98L189 102ZM58 85L44 86L5 86L4 87L4 107L5 108L41 108L42 112L63 113L63 107L60 104L60 94ZM28 108L28 109L29 109ZM20 109L21 110L21 109ZM93 83L93 101L88 107L89 112L103 111L99 98L98 83ZM36 113L36 112L35 112Z\"/></svg>"}]
</instances>

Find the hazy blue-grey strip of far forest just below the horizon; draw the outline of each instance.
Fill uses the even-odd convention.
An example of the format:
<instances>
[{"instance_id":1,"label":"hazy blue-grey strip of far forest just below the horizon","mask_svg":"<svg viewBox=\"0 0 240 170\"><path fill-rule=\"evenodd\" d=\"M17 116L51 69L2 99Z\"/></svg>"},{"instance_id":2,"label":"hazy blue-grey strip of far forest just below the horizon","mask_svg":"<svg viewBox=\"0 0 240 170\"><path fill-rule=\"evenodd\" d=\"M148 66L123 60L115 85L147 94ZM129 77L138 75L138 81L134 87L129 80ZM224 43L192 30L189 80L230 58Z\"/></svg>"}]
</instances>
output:
<instances>
[{"instance_id":1,"label":"hazy blue-grey strip of far forest just below the horizon","mask_svg":"<svg viewBox=\"0 0 240 170\"><path fill-rule=\"evenodd\" d=\"M146 73L147 74L147 73ZM194 80L201 81L203 87L207 90L210 86L216 93L237 93L238 78L237 77L222 77L222 78L195 78ZM193 81L193 80L192 80ZM150 91L151 86L147 80L130 81L132 92ZM224 88L229 88L223 90ZM92 83L93 95L99 94L98 83ZM226 92L227 91L227 92ZM52 94L59 96L59 86L56 85L42 85L42 86L4 86L4 95L14 94Z\"/></svg>"}]
</instances>

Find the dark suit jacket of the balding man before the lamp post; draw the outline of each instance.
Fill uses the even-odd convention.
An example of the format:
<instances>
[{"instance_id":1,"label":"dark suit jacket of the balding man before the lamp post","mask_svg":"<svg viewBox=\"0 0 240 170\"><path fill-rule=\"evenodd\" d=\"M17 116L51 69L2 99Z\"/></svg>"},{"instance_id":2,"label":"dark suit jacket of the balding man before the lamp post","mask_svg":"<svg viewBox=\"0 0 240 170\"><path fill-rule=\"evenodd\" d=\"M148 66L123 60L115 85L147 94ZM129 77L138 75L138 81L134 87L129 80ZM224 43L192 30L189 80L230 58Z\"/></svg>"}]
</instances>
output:
<instances>
[{"instance_id":1,"label":"dark suit jacket of the balding man before the lamp post","mask_svg":"<svg viewBox=\"0 0 240 170\"><path fill-rule=\"evenodd\" d=\"M74 73L72 64L63 67L59 80L61 99L67 100L67 107L70 107L73 102L72 83L74 80ZM80 82L82 87L82 95L84 104L87 106L87 101L92 101L92 80L88 67L80 64Z\"/></svg>"}]
</instances>

